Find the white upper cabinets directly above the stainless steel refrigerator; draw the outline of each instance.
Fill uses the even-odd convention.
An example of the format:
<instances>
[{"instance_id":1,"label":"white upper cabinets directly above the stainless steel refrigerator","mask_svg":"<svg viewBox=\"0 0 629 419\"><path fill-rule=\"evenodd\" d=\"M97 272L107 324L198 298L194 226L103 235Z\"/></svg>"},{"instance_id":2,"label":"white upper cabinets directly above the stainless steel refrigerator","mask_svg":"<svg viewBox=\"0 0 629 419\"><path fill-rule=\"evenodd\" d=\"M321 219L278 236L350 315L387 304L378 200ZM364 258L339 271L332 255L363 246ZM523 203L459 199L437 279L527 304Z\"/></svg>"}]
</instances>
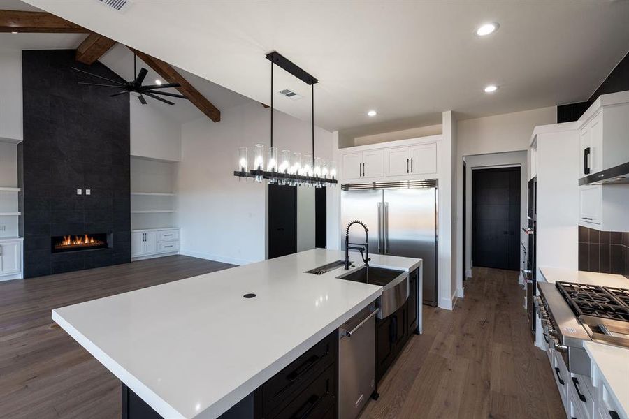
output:
<instances>
[{"instance_id":1,"label":"white upper cabinets directly above the stainless steel refrigerator","mask_svg":"<svg viewBox=\"0 0 629 419\"><path fill-rule=\"evenodd\" d=\"M341 149L341 182L438 177L438 144L441 136L428 138Z\"/></svg>"}]
</instances>

